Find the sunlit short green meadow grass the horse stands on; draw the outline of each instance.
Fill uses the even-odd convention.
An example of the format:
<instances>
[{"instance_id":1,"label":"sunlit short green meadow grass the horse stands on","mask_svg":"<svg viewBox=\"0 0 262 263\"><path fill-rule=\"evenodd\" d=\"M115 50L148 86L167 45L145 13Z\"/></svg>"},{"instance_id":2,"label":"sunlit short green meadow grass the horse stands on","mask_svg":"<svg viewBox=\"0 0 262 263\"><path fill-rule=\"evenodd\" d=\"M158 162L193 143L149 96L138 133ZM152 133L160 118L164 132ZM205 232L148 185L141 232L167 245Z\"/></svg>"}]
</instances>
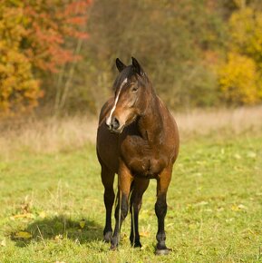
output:
<instances>
[{"instance_id":1,"label":"sunlit short green meadow grass the horse stands on","mask_svg":"<svg viewBox=\"0 0 262 263\"><path fill-rule=\"evenodd\" d=\"M0 162L0 262L261 262L262 136L195 137L181 144L166 217L169 256L155 256L156 182L140 216L142 249L102 242L104 208L94 145ZM15 215L26 214L19 218ZM83 229L79 222L85 219ZM31 239L15 239L24 230Z\"/></svg>"}]
</instances>

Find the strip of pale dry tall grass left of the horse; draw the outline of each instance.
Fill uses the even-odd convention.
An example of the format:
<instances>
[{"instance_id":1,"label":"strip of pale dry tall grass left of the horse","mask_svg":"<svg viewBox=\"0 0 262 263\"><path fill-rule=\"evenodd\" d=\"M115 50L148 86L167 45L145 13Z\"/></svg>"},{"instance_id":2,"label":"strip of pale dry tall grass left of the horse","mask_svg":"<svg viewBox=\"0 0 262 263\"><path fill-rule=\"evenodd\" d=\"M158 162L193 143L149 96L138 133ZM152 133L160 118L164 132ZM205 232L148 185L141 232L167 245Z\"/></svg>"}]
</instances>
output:
<instances>
[{"instance_id":1,"label":"strip of pale dry tall grass left of the horse","mask_svg":"<svg viewBox=\"0 0 262 263\"><path fill-rule=\"evenodd\" d=\"M85 116L9 123L0 132L0 154L8 157L20 150L51 153L80 148L95 141L96 126L94 118Z\"/></svg>"}]
</instances>

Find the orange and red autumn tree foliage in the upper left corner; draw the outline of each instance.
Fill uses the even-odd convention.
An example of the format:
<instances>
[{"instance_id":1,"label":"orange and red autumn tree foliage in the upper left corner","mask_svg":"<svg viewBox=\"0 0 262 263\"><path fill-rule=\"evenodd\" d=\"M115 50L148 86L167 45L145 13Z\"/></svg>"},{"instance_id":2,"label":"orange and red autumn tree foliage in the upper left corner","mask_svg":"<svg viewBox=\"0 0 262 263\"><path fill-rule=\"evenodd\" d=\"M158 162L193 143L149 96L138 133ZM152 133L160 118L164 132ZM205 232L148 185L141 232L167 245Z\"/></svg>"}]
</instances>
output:
<instances>
[{"instance_id":1,"label":"orange and red autumn tree foliage in the upper left corner","mask_svg":"<svg viewBox=\"0 0 262 263\"><path fill-rule=\"evenodd\" d=\"M34 108L40 76L77 59L67 40L86 39L90 0L0 2L0 114Z\"/></svg>"}]
</instances>

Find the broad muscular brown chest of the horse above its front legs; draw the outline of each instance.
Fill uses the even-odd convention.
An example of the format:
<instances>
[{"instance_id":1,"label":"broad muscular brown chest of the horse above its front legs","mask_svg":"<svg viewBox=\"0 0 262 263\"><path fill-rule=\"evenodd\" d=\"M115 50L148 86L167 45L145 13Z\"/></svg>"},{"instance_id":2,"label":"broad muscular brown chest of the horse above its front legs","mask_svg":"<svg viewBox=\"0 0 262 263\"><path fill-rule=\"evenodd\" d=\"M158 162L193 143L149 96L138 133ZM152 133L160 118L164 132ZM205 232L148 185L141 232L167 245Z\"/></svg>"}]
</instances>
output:
<instances>
[{"instance_id":1,"label":"broad muscular brown chest of the horse above its front legs","mask_svg":"<svg viewBox=\"0 0 262 263\"><path fill-rule=\"evenodd\" d=\"M130 168L132 174L143 178L156 178L166 166L160 149L150 147L140 137L125 141L121 147L121 157Z\"/></svg>"}]
</instances>

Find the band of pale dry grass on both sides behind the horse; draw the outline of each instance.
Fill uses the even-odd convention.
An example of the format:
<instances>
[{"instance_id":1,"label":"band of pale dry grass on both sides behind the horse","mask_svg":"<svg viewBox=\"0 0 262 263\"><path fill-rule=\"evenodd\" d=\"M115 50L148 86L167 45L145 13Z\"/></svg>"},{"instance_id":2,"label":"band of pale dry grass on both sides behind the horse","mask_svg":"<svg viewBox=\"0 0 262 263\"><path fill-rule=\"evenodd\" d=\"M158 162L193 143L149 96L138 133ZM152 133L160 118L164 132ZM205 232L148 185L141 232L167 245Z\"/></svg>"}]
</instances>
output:
<instances>
[{"instance_id":1,"label":"band of pale dry grass on both sides behind the horse","mask_svg":"<svg viewBox=\"0 0 262 263\"><path fill-rule=\"evenodd\" d=\"M182 140L214 132L260 132L262 106L174 113ZM68 151L95 142L97 118L71 116L30 118L0 125L0 155L9 159L17 151L51 153Z\"/></svg>"}]
</instances>

